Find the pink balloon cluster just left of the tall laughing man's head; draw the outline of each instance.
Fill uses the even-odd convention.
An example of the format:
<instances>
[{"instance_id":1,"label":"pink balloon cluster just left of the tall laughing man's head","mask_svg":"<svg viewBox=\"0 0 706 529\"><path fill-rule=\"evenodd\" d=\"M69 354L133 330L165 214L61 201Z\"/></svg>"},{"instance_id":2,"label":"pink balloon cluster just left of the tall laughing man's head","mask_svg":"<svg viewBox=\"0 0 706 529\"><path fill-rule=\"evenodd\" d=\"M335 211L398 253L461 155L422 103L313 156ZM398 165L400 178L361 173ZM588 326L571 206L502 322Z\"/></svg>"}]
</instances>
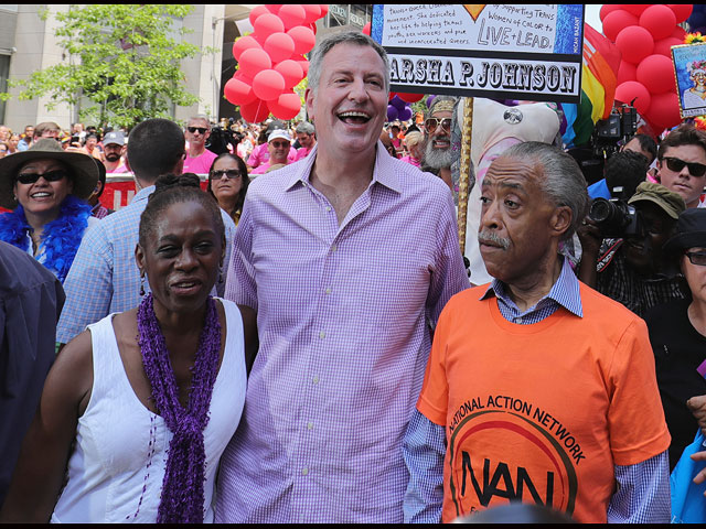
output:
<instances>
[{"instance_id":1,"label":"pink balloon cluster just left of the tall laughing man's head","mask_svg":"<svg viewBox=\"0 0 706 529\"><path fill-rule=\"evenodd\" d=\"M250 11L254 31L233 44L238 69L223 88L243 118L258 123L270 112L282 120L299 114L295 86L309 72L303 55L315 44L317 20L328 12L328 4L263 4Z\"/></svg>"}]
</instances>

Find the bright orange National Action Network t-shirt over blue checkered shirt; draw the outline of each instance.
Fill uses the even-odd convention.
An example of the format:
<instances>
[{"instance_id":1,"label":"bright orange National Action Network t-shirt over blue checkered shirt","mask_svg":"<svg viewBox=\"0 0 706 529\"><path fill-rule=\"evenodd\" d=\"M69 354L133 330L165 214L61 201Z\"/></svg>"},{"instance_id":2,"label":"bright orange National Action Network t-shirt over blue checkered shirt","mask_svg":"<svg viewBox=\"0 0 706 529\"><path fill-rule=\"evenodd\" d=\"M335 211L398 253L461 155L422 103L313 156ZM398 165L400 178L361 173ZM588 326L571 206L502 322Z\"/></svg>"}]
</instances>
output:
<instances>
[{"instance_id":1,"label":"bright orange National Action Network t-shirt over blue checkered shirt","mask_svg":"<svg viewBox=\"0 0 706 529\"><path fill-rule=\"evenodd\" d=\"M441 313L417 403L447 430L443 521L522 500L605 523L613 465L670 445L645 323L582 283L584 317L532 325L483 292Z\"/></svg>"}]
</instances>

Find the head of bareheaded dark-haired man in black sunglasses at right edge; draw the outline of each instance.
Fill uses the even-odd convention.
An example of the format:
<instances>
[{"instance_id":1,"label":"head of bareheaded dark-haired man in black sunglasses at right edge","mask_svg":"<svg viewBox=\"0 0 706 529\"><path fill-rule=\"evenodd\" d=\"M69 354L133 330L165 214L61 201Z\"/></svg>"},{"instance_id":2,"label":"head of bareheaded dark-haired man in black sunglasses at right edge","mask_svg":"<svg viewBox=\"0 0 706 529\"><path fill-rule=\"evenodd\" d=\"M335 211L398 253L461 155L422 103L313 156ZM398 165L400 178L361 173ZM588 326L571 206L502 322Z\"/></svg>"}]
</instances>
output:
<instances>
[{"instance_id":1,"label":"head of bareheaded dark-haired man in black sunglasses at right edge","mask_svg":"<svg viewBox=\"0 0 706 529\"><path fill-rule=\"evenodd\" d=\"M678 193L686 207L705 207L706 132L682 125L660 143L656 181Z\"/></svg>"}]
</instances>

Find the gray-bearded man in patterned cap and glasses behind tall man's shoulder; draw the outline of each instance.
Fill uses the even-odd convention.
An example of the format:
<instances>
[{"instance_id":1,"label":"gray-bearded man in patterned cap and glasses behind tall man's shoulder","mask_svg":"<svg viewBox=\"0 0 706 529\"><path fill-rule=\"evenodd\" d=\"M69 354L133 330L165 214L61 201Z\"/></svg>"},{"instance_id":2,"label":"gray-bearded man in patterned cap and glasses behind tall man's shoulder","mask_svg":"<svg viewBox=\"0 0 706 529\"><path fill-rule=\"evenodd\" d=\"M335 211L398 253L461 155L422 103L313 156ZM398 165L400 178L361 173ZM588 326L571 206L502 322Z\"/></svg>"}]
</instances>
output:
<instances>
[{"instance_id":1,"label":"gray-bearded man in patterned cap and glasses behind tall man's shoulder","mask_svg":"<svg viewBox=\"0 0 706 529\"><path fill-rule=\"evenodd\" d=\"M451 164L460 154L451 149L451 117L456 101L456 97L449 96L434 98L424 121L426 147L421 161L421 170L439 176L451 191Z\"/></svg>"}]
</instances>

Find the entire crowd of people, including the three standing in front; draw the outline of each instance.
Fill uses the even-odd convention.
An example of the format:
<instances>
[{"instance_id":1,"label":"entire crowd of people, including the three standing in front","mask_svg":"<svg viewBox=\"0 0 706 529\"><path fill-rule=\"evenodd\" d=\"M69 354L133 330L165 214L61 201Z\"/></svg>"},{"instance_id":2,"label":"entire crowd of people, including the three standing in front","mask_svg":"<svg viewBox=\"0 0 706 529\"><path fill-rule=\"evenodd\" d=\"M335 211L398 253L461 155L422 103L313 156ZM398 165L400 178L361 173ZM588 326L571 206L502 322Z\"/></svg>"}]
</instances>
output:
<instances>
[{"instance_id":1,"label":"entire crowd of people, including the three standing in front","mask_svg":"<svg viewBox=\"0 0 706 529\"><path fill-rule=\"evenodd\" d=\"M587 182L550 105L477 99L463 256L463 101L386 122L388 73L336 33L308 121L0 127L0 520L671 521L706 132Z\"/></svg>"}]
</instances>

